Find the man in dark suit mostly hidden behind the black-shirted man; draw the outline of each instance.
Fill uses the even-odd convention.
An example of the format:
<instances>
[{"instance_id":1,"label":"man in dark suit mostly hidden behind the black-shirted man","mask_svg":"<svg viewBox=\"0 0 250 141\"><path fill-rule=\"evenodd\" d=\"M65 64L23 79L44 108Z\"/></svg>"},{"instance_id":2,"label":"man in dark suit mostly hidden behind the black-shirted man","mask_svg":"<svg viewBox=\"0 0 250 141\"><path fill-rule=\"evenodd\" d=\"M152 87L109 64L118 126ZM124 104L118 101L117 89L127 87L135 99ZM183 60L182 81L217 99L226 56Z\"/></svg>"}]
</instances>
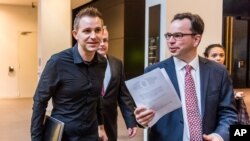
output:
<instances>
[{"instance_id":1,"label":"man in dark suit mostly hidden behind the black-shirted man","mask_svg":"<svg viewBox=\"0 0 250 141\"><path fill-rule=\"evenodd\" d=\"M109 35L107 27L104 26L102 43L98 53L103 55L108 62L102 93L104 128L109 141L117 140L117 106L119 104L121 113L128 129L128 136L134 137L137 132L137 122L133 113L135 107L130 93L125 85L125 74L122 61L108 55Z\"/></svg>"}]
</instances>

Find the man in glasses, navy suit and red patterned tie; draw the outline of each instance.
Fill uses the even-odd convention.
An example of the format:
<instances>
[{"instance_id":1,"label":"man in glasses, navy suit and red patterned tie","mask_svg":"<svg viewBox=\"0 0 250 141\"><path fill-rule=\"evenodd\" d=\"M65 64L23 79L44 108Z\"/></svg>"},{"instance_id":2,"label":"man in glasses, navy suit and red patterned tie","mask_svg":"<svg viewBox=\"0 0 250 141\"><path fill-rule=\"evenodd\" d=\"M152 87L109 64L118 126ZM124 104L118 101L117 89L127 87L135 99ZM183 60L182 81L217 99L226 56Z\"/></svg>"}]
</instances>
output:
<instances>
[{"instance_id":1,"label":"man in glasses, navy suit and red patterned tie","mask_svg":"<svg viewBox=\"0 0 250 141\"><path fill-rule=\"evenodd\" d=\"M172 57L145 70L149 72L155 68L164 68L182 103L181 108L164 115L149 128L150 141L229 140L229 126L237 121L233 87L224 66L197 55L203 30L204 22L199 15L176 14L165 34ZM190 106L187 106L188 92L185 91L187 85L184 82L186 65L192 68L197 107L195 112L198 111L200 121L196 129L200 130L190 130L198 121L189 120L191 112ZM134 113L138 123L143 126L147 126L155 115L155 111L146 107L137 107ZM192 139L194 134L191 133L199 135Z\"/></svg>"}]
</instances>

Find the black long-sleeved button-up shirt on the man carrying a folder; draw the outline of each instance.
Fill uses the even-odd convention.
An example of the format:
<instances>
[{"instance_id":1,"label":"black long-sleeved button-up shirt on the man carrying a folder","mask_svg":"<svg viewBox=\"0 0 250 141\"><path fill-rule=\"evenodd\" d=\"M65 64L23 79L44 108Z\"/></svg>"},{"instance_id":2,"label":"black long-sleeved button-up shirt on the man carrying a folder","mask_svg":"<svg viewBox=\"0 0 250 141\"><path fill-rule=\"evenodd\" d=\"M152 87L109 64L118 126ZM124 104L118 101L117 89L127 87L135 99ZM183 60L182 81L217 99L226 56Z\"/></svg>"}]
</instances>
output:
<instances>
[{"instance_id":1,"label":"black long-sleeved button-up shirt on the man carrying a folder","mask_svg":"<svg viewBox=\"0 0 250 141\"><path fill-rule=\"evenodd\" d=\"M63 134L84 138L98 132L97 114L102 115L99 102L107 62L96 53L86 63L77 47L53 55L44 68L34 95L32 141L42 140L44 115L51 97L51 116L65 123ZM98 122L103 123L102 116Z\"/></svg>"}]
</instances>

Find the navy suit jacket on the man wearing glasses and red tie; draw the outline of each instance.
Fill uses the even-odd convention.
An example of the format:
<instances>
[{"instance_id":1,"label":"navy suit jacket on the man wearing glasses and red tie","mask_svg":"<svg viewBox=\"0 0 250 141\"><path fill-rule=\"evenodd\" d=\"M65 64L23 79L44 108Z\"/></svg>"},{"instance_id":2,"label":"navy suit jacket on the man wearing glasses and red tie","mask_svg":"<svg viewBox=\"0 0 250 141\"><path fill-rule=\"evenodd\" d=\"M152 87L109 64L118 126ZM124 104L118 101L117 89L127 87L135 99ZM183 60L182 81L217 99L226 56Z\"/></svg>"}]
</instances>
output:
<instances>
[{"instance_id":1,"label":"navy suit jacket on the man wearing glasses and red tie","mask_svg":"<svg viewBox=\"0 0 250 141\"><path fill-rule=\"evenodd\" d=\"M233 87L228 72L224 66L201 57L199 66L203 133L217 133L224 141L228 141L229 125L237 121ZM149 66L145 72L155 68L166 70L180 98L173 57ZM149 140L182 141L183 122L182 108L166 114L149 129Z\"/></svg>"}]
</instances>

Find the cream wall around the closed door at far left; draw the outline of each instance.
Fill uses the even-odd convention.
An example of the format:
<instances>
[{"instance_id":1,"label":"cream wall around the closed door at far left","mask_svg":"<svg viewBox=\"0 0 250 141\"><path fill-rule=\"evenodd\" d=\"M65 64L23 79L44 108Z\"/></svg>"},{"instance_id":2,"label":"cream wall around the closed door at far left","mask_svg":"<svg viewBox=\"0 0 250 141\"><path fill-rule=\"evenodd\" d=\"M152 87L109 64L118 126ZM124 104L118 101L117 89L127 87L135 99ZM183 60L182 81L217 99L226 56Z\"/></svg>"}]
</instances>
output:
<instances>
[{"instance_id":1,"label":"cream wall around the closed door at far left","mask_svg":"<svg viewBox=\"0 0 250 141\"><path fill-rule=\"evenodd\" d=\"M37 32L37 9L0 5L0 98L18 96L18 39L23 31ZM15 71L8 72L13 66Z\"/></svg>"}]
</instances>

